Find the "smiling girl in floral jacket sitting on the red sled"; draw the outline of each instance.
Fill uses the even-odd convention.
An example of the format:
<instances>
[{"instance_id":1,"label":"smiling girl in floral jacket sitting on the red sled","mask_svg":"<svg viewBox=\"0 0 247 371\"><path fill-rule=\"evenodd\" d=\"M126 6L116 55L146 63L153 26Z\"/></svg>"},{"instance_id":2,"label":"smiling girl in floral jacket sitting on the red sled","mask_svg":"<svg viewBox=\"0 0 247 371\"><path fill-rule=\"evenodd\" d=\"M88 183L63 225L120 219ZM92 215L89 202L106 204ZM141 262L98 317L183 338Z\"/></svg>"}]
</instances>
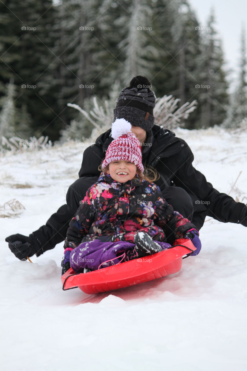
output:
<instances>
[{"instance_id":1,"label":"smiling girl in floral jacket sitting on the red sled","mask_svg":"<svg viewBox=\"0 0 247 371\"><path fill-rule=\"evenodd\" d=\"M98 182L69 223L62 274L70 266L85 273L157 253L169 246L166 242L173 244L185 235L200 251L194 224L174 211L144 175L140 142L131 124L116 119L111 136Z\"/></svg>"}]
</instances>

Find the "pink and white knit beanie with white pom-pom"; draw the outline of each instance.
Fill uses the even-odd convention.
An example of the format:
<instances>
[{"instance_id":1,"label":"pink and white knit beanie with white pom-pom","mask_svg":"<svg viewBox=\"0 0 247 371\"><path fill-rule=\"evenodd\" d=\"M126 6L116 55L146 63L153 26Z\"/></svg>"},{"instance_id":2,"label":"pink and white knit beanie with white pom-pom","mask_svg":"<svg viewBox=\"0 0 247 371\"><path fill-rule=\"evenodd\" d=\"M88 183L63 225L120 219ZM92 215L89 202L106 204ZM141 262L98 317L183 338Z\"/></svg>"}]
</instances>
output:
<instances>
[{"instance_id":1,"label":"pink and white knit beanie with white pom-pom","mask_svg":"<svg viewBox=\"0 0 247 371\"><path fill-rule=\"evenodd\" d=\"M132 162L143 173L142 152L139 140L131 133L131 123L124 118L116 119L112 124L111 136L114 139L107 148L102 166L112 161Z\"/></svg>"}]
</instances>

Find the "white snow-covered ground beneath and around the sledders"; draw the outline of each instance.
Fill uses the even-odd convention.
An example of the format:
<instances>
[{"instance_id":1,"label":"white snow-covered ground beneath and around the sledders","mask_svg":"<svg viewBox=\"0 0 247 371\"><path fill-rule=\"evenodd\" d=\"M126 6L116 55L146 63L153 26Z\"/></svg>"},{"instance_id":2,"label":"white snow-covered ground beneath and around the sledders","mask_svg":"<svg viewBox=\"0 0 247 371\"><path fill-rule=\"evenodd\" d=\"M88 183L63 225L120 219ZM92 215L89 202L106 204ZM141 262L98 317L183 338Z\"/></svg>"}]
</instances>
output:
<instances>
[{"instance_id":1,"label":"white snow-covered ground beneath and around the sledders","mask_svg":"<svg viewBox=\"0 0 247 371\"><path fill-rule=\"evenodd\" d=\"M247 133L176 130L194 166L219 191L247 202ZM106 294L62 291L63 243L21 262L4 241L28 235L65 203L85 149L71 144L0 157L1 370L246 371L247 229L205 222L200 255L180 272ZM24 186L24 187L23 187ZM27 188L29 187L29 188ZM245 197L245 198L244 198ZM3 211L1 211L3 214ZM6 204L6 215L13 211Z\"/></svg>"}]
</instances>

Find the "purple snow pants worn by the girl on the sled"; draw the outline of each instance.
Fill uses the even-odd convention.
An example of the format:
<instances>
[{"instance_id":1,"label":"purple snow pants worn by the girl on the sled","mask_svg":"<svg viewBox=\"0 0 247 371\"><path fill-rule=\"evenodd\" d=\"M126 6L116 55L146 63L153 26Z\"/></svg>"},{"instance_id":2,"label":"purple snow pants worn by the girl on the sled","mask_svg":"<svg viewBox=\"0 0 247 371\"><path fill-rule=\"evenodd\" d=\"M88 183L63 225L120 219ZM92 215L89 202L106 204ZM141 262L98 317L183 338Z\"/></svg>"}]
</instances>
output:
<instances>
[{"instance_id":1,"label":"purple snow pants worn by the girl on the sled","mask_svg":"<svg viewBox=\"0 0 247 371\"><path fill-rule=\"evenodd\" d=\"M163 250L171 246L165 242L158 242L158 244ZM126 241L102 242L94 240L82 242L70 253L70 266L75 272L83 272L84 268L97 270L99 267L109 267L121 262L122 256L119 255L128 250L133 250L134 247L134 243ZM138 256L136 255L136 257Z\"/></svg>"}]
</instances>

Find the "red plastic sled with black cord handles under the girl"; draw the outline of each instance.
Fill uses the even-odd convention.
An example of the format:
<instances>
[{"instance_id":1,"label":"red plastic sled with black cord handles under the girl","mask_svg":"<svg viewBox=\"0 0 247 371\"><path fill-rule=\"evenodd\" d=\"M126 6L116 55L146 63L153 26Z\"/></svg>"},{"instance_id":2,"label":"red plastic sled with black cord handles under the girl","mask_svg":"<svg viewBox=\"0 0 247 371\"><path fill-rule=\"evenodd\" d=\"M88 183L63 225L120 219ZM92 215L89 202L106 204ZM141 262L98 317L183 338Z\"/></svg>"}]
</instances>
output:
<instances>
[{"instance_id":1,"label":"red plastic sled with black cord handles under the girl","mask_svg":"<svg viewBox=\"0 0 247 371\"><path fill-rule=\"evenodd\" d=\"M154 255L89 273L75 273L70 268L61 277L63 290L78 287L87 294L93 294L122 289L176 273L181 269L183 256L188 256L195 250L191 240L179 239L176 243L175 246Z\"/></svg>"}]
</instances>

